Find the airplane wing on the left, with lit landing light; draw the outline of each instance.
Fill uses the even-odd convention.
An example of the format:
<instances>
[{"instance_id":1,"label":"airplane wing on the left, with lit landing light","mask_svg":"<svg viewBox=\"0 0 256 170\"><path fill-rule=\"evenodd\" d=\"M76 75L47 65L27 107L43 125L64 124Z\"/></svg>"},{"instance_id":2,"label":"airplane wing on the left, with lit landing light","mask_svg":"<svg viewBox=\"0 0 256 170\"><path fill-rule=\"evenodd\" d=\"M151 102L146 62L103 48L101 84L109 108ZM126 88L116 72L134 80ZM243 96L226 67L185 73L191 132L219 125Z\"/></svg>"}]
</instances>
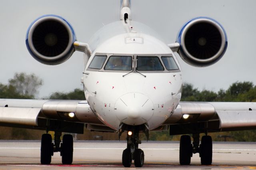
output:
<instances>
[{"instance_id":1,"label":"airplane wing on the left, with lit landing light","mask_svg":"<svg viewBox=\"0 0 256 170\"><path fill-rule=\"evenodd\" d=\"M84 124L104 126L87 101L0 99L0 126L83 133Z\"/></svg>"}]
</instances>

